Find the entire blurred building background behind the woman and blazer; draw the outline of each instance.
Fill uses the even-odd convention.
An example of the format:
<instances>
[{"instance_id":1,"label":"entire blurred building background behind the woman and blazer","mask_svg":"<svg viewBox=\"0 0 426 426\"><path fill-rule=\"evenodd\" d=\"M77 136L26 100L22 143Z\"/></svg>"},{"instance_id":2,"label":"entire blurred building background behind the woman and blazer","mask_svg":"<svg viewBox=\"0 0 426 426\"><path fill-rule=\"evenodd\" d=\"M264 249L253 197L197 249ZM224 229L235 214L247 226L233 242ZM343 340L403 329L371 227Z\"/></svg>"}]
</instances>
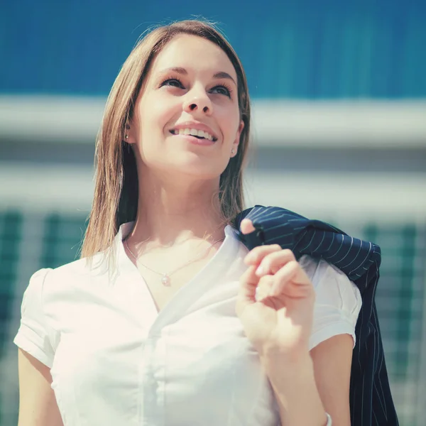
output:
<instances>
[{"instance_id":1,"label":"entire blurred building background behind the woman and blazer","mask_svg":"<svg viewBox=\"0 0 426 426\"><path fill-rule=\"evenodd\" d=\"M114 78L147 28L197 16L219 23L249 79L248 204L381 246L395 405L401 425L425 425L426 2L409 0L0 2L0 425L17 423L28 278L80 248Z\"/></svg>"}]
</instances>

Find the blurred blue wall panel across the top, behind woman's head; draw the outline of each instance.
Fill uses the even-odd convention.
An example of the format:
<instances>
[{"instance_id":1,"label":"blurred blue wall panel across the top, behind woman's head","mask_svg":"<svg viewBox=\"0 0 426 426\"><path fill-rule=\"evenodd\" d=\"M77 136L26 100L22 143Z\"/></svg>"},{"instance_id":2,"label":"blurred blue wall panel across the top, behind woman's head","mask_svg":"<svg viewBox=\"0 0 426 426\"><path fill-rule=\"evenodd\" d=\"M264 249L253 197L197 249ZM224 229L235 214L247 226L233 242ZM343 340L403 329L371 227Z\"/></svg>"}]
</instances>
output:
<instances>
[{"instance_id":1,"label":"blurred blue wall panel across the top, behind woman's head","mask_svg":"<svg viewBox=\"0 0 426 426\"><path fill-rule=\"evenodd\" d=\"M253 97L426 97L426 1L0 3L0 93L104 95L138 36L220 23Z\"/></svg>"}]
</instances>

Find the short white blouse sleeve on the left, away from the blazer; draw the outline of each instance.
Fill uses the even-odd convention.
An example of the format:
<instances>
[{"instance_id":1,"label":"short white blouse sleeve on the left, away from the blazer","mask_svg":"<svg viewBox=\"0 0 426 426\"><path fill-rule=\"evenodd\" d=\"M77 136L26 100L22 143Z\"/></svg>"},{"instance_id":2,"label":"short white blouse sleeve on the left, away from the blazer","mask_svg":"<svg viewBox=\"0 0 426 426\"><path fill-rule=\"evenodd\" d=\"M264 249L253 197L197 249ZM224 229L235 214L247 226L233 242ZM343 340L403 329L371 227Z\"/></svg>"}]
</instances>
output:
<instances>
[{"instance_id":1,"label":"short white blouse sleeve on the left, away from the blazer","mask_svg":"<svg viewBox=\"0 0 426 426\"><path fill-rule=\"evenodd\" d=\"M43 312L43 283L49 268L33 274L21 305L21 325L13 343L38 359L49 368L53 364L53 346L50 343L52 330L49 329Z\"/></svg>"}]
</instances>

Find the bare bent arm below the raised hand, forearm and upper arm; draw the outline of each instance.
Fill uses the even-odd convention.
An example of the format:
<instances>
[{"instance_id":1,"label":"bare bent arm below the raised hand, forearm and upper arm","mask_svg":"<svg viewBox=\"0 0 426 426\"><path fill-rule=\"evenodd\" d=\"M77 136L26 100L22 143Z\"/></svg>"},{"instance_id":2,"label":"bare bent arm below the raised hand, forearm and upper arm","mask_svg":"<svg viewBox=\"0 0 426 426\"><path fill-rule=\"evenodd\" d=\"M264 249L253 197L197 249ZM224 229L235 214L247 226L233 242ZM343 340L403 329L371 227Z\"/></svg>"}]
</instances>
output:
<instances>
[{"instance_id":1,"label":"bare bent arm below the raised hand, forearm and upper arm","mask_svg":"<svg viewBox=\"0 0 426 426\"><path fill-rule=\"evenodd\" d=\"M307 356L266 362L283 426L350 426L349 379L353 340L339 334L320 343Z\"/></svg>"}]
</instances>

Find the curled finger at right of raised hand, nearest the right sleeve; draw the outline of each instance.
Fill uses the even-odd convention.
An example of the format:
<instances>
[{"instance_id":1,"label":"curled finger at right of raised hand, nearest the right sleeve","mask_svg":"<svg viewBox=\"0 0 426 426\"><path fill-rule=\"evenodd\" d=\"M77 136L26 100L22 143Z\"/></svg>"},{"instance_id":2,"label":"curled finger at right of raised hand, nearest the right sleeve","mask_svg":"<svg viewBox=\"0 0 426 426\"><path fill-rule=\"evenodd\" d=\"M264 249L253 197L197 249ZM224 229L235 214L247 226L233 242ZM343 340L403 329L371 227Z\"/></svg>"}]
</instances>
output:
<instances>
[{"instance_id":1,"label":"curled finger at right of raised hand, nearest the right sleeve","mask_svg":"<svg viewBox=\"0 0 426 426\"><path fill-rule=\"evenodd\" d=\"M286 263L273 277L271 296L285 294L290 297L305 297L313 291L310 279L297 261Z\"/></svg>"}]
</instances>

